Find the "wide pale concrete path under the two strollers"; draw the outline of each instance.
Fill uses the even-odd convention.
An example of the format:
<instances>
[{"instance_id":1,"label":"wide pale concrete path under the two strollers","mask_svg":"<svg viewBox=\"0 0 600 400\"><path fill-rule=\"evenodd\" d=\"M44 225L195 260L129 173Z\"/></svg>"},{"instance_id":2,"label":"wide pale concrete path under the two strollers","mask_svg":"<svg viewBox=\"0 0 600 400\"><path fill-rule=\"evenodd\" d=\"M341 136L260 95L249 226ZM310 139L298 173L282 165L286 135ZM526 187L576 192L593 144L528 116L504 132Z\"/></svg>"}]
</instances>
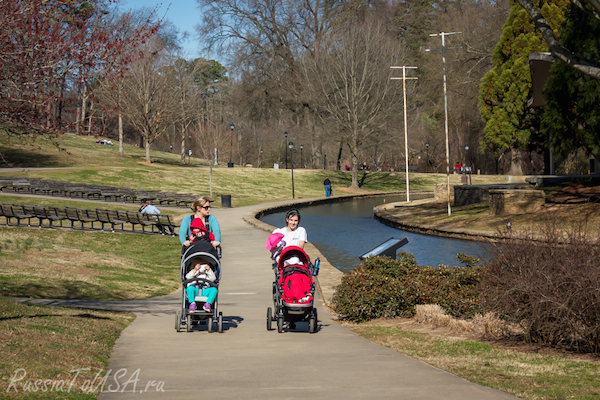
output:
<instances>
[{"instance_id":1,"label":"wide pale concrete path under the two strollers","mask_svg":"<svg viewBox=\"0 0 600 400\"><path fill-rule=\"evenodd\" d=\"M331 320L319 298L317 333L309 334L306 323L267 331L268 233L243 220L255 208L213 210L223 234L222 334L205 326L175 331L181 292L142 301L43 302L137 314L111 356L118 385L109 380L100 399L515 399L355 335Z\"/></svg>"}]
</instances>

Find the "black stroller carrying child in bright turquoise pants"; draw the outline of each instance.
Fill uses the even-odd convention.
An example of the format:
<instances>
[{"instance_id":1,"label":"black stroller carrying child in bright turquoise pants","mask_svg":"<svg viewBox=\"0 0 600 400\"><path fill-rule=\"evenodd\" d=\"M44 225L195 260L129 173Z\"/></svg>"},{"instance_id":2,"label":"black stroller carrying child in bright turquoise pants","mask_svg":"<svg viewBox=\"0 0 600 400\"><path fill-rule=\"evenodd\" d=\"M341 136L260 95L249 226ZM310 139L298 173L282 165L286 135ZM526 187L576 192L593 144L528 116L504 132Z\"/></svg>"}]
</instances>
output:
<instances>
[{"instance_id":1,"label":"black stroller carrying child in bright turquoise pants","mask_svg":"<svg viewBox=\"0 0 600 400\"><path fill-rule=\"evenodd\" d=\"M208 331L217 322L219 333L223 332L223 313L218 312L218 288L221 279L221 263L217 249L206 240L197 240L185 248L181 257L181 311L176 313L175 330L182 324L188 332L193 325L207 321ZM204 304L200 309L196 304Z\"/></svg>"}]
</instances>

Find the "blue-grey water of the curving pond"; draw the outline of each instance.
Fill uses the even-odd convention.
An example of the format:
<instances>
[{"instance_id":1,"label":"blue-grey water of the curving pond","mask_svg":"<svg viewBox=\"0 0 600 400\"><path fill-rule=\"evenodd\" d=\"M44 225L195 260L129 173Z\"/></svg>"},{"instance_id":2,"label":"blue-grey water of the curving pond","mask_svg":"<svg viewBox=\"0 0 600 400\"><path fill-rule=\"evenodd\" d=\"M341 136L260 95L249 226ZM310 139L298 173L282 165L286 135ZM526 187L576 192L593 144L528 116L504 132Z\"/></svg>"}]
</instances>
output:
<instances>
[{"instance_id":1,"label":"blue-grey water of the curving pond","mask_svg":"<svg viewBox=\"0 0 600 400\"><path fill-rule=\"evenodd\" d=\"M399 251L412 253L419 265L460 265L456 254L462 252L484 258L489 245L405 232L378 222L373 219L373 207L383 204L384 199L387 203L406 201L405 196L389 196L305 207L300 209L300 225L308 232L308 241L343 272L352 271L360 264L361 254L391 237L408 238L408 244ZM267 215L261 221L285 226L285 212Z\"/></svg>"}]
</instances>

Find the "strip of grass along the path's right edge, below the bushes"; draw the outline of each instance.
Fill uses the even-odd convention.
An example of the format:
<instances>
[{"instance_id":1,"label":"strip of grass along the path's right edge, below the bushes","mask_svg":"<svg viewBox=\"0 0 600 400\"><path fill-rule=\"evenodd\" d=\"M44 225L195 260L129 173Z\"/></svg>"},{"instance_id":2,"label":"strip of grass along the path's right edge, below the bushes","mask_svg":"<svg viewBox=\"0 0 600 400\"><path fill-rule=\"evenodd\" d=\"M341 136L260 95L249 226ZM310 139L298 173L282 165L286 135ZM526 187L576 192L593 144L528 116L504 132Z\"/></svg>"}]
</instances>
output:
<instances>
[{"instance_id":1,"label":"strip of grass along the path's right edge, below the bushes","mask_svg":"<svg viewBox=\"0 0 600 400\"><path fill-rule=\"evenodd\" d=\"M523 399L598 399L600 365L396 327L351 326L359 335L479 385Z\"/></svg>"}]
</instances>

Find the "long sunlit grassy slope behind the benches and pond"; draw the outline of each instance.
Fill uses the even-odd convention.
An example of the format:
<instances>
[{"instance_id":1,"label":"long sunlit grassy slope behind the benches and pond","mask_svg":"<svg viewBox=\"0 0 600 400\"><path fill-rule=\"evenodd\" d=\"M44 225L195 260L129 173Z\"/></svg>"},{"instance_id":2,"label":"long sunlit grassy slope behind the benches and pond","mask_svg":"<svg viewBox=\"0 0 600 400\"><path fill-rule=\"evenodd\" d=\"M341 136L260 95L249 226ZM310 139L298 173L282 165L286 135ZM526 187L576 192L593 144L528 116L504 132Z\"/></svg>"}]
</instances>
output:
<instances>
[{"instance_id":1,"label":"long sunlit grassy slope behind the benches and pond","mask_svg":"<svg viewBox=\"0 0 600 400\"><path fill-rule=\"evenodd\" d=\"M30 177L197 195L210 194L210 169L205 160L191 158L191 165L181 165L179 155L152 150L152 165L147 165L143 163L142 149L125 145L125 155L119 156L117 145L97 145L96 139L88 136L61 136L60 146L66 151L59 151L55 145L43 140L37 141L35 145L38 147L35 148L30 144L20 144L15 139L0 137L0 140L0 153L4 153L5 158L15 165L72 167L66 170L31 170L27 173ZM3 172L22 174L10 169ZM323 180L326 176L330 177L334 195L406 190L406 175L400 172L359 172L360 190L351 191L351 172L295 169L295 197L322 197ZM445 180L444 174L410 174L410 188L413 191L431 191L435 183ZM460 182L460 176L452 175L451 180L453 183ZM232 196L234 207L292 198L291 170L239 166L226 168L220 165L213 168L212 181L216 205L223 194ZM499 181L502 181L501 177L473 176L473 183Z\"/></svg>"}]
</instances>

